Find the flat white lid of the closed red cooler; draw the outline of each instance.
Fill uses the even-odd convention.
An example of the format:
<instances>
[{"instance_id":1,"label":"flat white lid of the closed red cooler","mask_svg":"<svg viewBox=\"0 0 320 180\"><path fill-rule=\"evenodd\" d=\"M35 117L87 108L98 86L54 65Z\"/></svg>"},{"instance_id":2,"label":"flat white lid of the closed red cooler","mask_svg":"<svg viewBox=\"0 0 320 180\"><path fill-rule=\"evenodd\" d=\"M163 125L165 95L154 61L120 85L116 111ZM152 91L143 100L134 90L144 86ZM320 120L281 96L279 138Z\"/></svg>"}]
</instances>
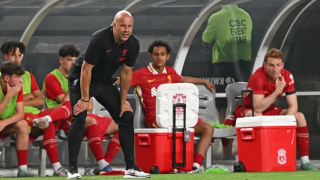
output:
<instances>
[{"instance_id":1,"label":"flat white lid of the closed red cooler","mask_svg":"<svg viewBox=\"0 0 320 180\"><path fill-rule=\"evenodd\" d=\"M294 115L263 115L236 118L235 127L295 126Z\"/></svg>"}]
</instances>

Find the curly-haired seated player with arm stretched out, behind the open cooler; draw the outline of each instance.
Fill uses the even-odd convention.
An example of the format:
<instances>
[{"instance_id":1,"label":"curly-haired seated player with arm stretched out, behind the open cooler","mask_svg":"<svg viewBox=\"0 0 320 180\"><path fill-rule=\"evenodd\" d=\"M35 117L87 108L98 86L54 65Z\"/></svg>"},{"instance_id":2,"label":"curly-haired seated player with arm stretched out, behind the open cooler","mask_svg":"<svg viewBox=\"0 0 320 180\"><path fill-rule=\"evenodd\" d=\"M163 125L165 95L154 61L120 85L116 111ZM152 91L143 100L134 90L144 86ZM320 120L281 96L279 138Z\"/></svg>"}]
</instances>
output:
<instances>
[{"instance_id":1,"label":"curly-haired seated player with arm stretched out, behind the open cooler","mask_svg":"<svg viewBox=\"0 0 320 180\"><path fill-rule=\"evenodd\" d=\"M157 128L155 121L155 96L156 89L163 83L178 83L187 82L194 84L203 84L210 91L215 87L207 80L180 76L171 66L165 66L169 60L171 47L166 42L161 40L153 41L148 47L148 52L152 62L147 67L142 67L135 70L132 74L130 86L136 86L138 95L140 96L142 106L145 110L145 121L149 128ZM116 83L119 84L119 77ZM206 153L212 139L213 127L198 118L197 124L194 126L194 133L201 135L201 138L196 146L194 154L193 170L199 169L202 164L204 154Z\"/></svg>"}]
</instances>

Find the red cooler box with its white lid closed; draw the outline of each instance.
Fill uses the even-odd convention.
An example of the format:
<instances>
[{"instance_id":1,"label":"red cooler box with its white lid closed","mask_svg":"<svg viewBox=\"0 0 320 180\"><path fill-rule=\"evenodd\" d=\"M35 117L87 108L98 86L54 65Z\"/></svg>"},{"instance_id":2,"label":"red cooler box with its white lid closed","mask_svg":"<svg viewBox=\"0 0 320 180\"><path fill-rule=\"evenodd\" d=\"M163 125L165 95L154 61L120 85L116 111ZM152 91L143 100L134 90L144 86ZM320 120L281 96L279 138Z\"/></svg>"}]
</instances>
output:
<instances>
[{"instance_id":1,"label":"red cooler box with its white lid closed","mask_svg":"<svg viewBox=\"0 0 320 180\"><path fill-rule=\"evenodd\" d=\"M296 120L293 115L236 119L238 159L246 172L296 170Z\"/></svg>"}]
</instances>

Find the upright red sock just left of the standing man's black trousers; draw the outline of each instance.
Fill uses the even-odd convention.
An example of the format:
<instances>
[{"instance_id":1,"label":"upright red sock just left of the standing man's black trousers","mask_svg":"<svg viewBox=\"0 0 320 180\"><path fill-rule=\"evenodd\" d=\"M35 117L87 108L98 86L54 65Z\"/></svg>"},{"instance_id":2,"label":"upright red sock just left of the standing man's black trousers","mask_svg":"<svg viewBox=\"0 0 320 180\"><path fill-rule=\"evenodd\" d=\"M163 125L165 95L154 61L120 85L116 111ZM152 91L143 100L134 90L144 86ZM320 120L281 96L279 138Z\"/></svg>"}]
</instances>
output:
<instances>
[{"instance_id":1,"label":"upright red sock just left of the standing man's black trousers","mask_svg":"<svg viewBox=\"0 0 320 180\"><path fill-rule=\"evenodd\" d=\"M43 130L43 146L51 164L59 161L58 147L55 140L55 128L53 122Z\"/></svg>"}]
</instances>

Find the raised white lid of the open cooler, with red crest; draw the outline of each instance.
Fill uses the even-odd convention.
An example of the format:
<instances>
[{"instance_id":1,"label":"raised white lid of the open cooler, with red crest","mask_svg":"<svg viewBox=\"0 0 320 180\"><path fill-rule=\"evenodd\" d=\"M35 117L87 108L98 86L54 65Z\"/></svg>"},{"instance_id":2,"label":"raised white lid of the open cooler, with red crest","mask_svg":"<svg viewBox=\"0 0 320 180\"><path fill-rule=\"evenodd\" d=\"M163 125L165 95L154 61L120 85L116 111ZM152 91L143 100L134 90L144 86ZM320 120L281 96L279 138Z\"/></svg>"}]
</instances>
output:
<instances>
[{"instance_id":1,"label":"raised white lid of the open cooler, with red crest","mask_svg":"<svg viewBox=\"0 0 320 180\"><path fill-rule=\"evenodd\" d=\"M165 83L158 86L155 100L155 120L159 127L173 126L173 104L185 103L185 126L193 127L198 120L199 90L192 83ZM183 127L183 109L176 108L175 124Z\"/></svg>"}]
</instances>

